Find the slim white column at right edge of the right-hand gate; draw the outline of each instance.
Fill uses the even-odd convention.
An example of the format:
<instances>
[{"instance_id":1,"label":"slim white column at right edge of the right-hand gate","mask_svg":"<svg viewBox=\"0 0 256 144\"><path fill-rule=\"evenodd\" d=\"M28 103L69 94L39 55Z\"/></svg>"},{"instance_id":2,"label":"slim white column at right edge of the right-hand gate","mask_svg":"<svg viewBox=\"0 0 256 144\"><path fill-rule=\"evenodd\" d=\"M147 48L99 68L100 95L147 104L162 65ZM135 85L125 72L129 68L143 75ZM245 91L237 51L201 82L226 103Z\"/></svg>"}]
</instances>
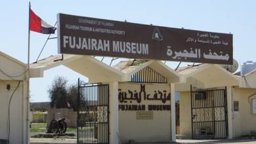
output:
<instances>
[{"instance_id":1,"label":"slim white column at right edge of the right-hand gate","mask_svg":"<svg viewBox=\"0 0 256 144\"><path fill-rule=\"evenodd\" d=\"M226 100L228 108L228 139L233 138L233 124L232 124L232 88L226 86Z\"/></svg>"}]
</instances>

